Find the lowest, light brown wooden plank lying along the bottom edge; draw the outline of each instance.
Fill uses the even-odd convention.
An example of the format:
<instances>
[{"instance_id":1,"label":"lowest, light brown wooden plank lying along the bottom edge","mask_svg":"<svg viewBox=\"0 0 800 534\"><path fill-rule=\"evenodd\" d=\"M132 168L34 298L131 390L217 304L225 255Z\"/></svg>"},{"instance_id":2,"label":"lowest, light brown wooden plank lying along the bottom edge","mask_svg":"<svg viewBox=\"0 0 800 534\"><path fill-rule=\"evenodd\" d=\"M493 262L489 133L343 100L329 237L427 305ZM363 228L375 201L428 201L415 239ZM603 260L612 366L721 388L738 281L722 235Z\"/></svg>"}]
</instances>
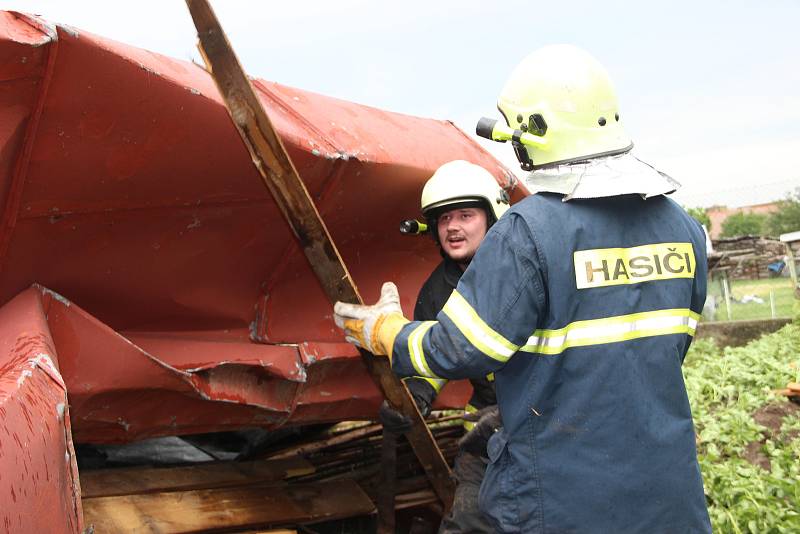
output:
<instances>
[{"instance_id":1,"label":"lowest, light brown wooden plank lying along the bottom edge","mask_svg":"<svg viewBox=\"0 0 800 534\"><path fill-rule=\"evenodd\" d=\"M95 497L83 500L86 526L98 534L254 529L371 514L352 480Z\"/></svg>"}]
</instances>

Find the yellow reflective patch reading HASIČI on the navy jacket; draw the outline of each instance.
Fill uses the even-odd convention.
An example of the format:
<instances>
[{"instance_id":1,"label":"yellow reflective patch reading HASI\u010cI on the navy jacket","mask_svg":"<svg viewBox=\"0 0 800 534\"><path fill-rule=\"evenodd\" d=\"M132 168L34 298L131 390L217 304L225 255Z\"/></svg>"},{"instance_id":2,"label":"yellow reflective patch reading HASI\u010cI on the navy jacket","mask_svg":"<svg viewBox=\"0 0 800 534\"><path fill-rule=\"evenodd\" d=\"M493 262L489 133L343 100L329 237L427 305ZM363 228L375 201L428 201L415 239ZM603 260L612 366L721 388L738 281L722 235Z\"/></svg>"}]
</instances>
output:
<instances>
[{"instance_id":1,"label":"yellow reflective patch reading HASI\u010cI on the navy jacket","mask_svg":"<svg viewBox=\"0 0 800 534\"><path fill-rule=\"evenodd\" d=\"M697 265L691 243L579 250L573 258L578 289L694 278Z\"/></svg>"}]
</instances>

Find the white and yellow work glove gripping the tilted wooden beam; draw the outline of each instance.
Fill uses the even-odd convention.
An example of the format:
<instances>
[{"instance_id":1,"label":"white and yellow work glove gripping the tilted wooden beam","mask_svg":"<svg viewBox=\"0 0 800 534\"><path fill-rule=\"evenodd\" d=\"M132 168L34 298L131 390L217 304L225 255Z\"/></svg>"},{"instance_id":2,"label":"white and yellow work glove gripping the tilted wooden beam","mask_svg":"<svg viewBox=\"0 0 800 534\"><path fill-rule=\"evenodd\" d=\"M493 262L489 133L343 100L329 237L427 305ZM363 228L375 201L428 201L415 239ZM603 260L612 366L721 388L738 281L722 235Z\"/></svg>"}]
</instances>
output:
<instances>
[{"instance_id":1,"label":"white and yellow work glove gripping the tilted wooden beam","mask_svg":"<svg viewBox=\"0 0 800 534\"><path fill-rule=\"evenodd\" d=\"M372 306L337 302L333 314L336 326L344 330L347 341L389 359L397 334L408 323L400 308L397 286L392 282L383 284L381 298Z\"/></svg>"}]
</instances>

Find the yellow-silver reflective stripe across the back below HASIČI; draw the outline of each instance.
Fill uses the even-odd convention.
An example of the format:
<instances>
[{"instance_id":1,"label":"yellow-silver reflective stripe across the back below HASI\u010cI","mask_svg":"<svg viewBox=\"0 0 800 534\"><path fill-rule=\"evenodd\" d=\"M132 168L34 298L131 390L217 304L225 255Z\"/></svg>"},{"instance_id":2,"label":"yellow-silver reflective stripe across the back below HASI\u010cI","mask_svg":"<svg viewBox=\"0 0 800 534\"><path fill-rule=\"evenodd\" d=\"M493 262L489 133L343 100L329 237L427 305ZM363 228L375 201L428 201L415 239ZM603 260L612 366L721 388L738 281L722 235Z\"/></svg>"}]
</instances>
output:
<instances>
[{"instance_id":1,"label":"yellow-silver reflective stripe across the back below HASI\u010cI","mask_svg":"<svg viewBox=\"0 0 800 534\"><path fill-rule=\"evenodd\" d=\"M586 347L663 336L694 335L700 315L688 308L632 313L590 321L576 321L558 330L536 330L520 351L560 354L571 347Z\"/></svg>"}]
</instances>

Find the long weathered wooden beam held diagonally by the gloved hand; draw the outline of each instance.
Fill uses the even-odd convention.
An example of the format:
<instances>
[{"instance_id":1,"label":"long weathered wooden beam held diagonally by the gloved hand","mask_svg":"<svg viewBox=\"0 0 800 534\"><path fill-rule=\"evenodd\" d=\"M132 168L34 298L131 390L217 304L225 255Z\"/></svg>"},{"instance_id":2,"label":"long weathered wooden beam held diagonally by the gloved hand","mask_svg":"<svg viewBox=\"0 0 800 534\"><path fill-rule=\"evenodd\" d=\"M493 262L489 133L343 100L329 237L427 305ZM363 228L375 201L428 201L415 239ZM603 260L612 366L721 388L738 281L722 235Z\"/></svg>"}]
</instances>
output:
<instances>
[{"instance_id":1,"label":"long weathered wooden beam held diagonally by the gloved hand","mask_svg":"<svg viewBox=\"0 0 800 534\"><path fill-rule=\"evenodd\" d=\"M200 51L222 94L231 119L276 204L303 248L331 303L362 303L325 223L311 200L286 149L233 52L207 0L186 0L197 28ZM431 436L405 385L392 373L387 358L361 352L364 364L389 403L412 420L406 437L439 498L453 499L450 468Z\"/></svg>"}]
</instances>

